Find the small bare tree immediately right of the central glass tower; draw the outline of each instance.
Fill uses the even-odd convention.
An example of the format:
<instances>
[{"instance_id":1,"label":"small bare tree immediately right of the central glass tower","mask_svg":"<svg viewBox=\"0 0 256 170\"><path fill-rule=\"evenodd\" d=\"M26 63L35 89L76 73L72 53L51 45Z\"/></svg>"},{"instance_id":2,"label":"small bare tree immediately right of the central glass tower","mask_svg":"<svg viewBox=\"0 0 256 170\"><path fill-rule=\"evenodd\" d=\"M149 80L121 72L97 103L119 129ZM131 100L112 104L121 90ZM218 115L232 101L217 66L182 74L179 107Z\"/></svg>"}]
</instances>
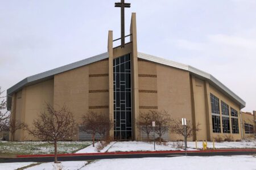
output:
<instances>
[{"instance_id":1,"label":"small bare tree immediately right of the central glass tower","mask_svg":"<svg viewBox=\"0 0 256 170\"><path fill-rule=\"evenodd\" d=\"M150 141L150 133L153 131L152 121L154 118L154 112L144 112L139 114L139 121L136 123L137 127L147 134L147 142Z\"/></svg>"}]
</instances>

